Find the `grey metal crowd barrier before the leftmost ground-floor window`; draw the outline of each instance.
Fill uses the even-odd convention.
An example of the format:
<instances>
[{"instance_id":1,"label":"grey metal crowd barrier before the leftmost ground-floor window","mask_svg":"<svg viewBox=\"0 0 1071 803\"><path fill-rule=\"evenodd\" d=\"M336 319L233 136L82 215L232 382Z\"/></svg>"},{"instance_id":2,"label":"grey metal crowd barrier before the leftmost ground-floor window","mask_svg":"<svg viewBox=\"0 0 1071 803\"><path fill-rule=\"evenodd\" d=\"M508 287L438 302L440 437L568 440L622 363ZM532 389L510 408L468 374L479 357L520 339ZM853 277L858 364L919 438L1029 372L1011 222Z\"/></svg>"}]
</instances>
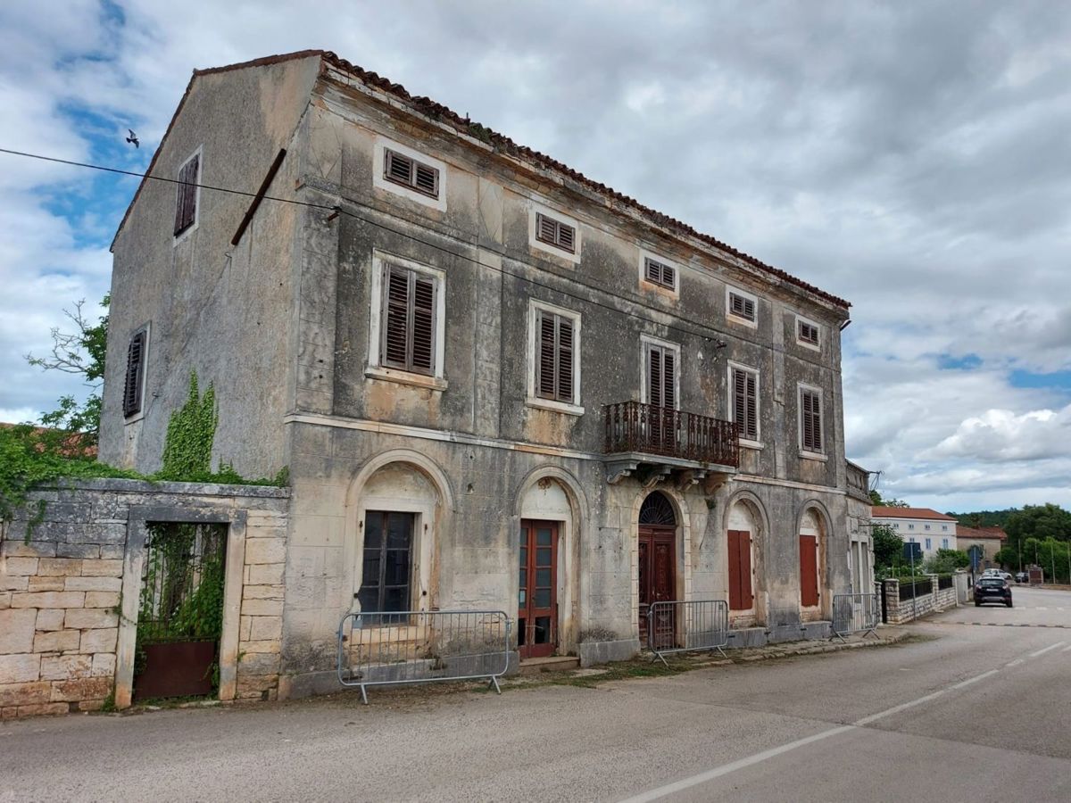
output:
<instances>
[{"instance_id":1,"label":"grey metal crowd barrier before the leftmost ground-floor window","mask_svg":"<svg viewBox=\"0 0 1071 803\"><path fill-rule=\"evenodd\" d=\"M510 668L510 618L501 610L347 613L338 623L338 682L367 686L483 680L501 694Z\"/></svg>"}]
</instances>

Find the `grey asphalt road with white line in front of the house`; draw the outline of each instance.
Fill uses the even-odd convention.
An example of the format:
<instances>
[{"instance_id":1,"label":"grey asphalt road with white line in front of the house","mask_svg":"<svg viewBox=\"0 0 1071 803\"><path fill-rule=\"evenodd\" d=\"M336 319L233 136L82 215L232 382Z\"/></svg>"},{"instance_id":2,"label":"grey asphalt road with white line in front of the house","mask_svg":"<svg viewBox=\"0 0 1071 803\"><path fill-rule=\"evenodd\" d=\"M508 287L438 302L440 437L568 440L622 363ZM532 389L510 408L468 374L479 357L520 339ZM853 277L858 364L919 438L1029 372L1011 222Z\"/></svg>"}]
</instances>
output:
<instances>
[{"instance_id":1,"label":"grey asphalt road with white line in front of the house","mask_svg":"<svg viewBox=\"0 0 1071 803\"><path fill-rule=\"evenodd\" d=\"M1071 592L1014 599L594 690L5 723L0 800L1068 801Z\"/></svg>"}]
</instances>

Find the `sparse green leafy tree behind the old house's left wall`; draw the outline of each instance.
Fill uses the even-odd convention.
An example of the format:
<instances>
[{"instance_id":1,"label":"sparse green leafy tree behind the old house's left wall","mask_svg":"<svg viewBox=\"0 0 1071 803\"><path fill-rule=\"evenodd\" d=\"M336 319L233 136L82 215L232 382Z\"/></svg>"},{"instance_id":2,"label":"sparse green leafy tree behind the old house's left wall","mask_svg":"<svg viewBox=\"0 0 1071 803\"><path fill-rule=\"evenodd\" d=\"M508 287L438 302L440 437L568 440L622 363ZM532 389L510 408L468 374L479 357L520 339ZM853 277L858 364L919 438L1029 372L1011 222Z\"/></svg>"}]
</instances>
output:
<instances>
[{"instance_id":1,"label":"sparse green leafy tree behind the old house's left wall","mask_svg":"<svg viewBox=\"0 0 1071 803\"><path fill-rule=\"evenodd\" d=\"M78 445L82 449L96 445L101 428L101 381L104 379L104 357L108 347L108 306L111 296L101 301L105 313L93 323L86 315L86 300L75 303L74 309L63 314L74 324L74 332L61 332L59 327L51 330L52 348L47 357L27 354L30 365L45 370L61 370L84 378L92 392L80 405L74 396L66 395L57 402L51 412L41 413L41 424L64 434L78 433Z\"/></svg>"}]
</instances>

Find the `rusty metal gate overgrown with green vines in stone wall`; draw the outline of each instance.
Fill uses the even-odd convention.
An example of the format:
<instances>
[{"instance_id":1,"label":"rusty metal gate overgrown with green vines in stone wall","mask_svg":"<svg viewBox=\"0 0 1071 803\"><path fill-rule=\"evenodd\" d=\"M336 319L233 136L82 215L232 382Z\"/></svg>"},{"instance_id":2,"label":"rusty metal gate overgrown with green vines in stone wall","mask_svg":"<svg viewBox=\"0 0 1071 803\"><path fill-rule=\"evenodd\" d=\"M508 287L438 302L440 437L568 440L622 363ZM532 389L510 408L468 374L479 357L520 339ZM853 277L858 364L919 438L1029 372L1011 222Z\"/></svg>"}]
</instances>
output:
<instances>
[{"instance_id":1,"label":"rusty metal gate overgrown with green vines in stone wall","mask_svg":"<svg viewBox=\"0 0 1071 803\"><path fill-rule=\"evenodd\" d=\"M213 694L227 526L150 522L138 601L134 699Z\"/></svg>"}]
</instances>

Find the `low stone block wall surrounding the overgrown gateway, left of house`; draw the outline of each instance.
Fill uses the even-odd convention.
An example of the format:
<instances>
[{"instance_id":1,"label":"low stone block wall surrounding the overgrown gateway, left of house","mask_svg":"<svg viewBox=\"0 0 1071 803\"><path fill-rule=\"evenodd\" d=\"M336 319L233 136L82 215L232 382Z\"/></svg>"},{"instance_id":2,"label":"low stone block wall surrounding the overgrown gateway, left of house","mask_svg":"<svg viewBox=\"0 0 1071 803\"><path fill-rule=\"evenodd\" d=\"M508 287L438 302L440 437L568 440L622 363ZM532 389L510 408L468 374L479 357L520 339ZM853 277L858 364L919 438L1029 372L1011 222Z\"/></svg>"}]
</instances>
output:
<instances>
[{"instance_id":1,"label":"low stone block wall surrounding the overgrown gateway, left of house","mask_svg":"<svg viewBox=\"0 0 1071 803\"><path fill-rule=\"evenodd\" d=\"M288 504L287 489L260 486L97 480L35 491L0 530L0 717L94 711L112 695L123 704L117 676L140 590L132 535L160 516L230 522L224 641L228 620L237 638L221 646L221 697L273 698Z\"/></svg>"}]
</instances>

